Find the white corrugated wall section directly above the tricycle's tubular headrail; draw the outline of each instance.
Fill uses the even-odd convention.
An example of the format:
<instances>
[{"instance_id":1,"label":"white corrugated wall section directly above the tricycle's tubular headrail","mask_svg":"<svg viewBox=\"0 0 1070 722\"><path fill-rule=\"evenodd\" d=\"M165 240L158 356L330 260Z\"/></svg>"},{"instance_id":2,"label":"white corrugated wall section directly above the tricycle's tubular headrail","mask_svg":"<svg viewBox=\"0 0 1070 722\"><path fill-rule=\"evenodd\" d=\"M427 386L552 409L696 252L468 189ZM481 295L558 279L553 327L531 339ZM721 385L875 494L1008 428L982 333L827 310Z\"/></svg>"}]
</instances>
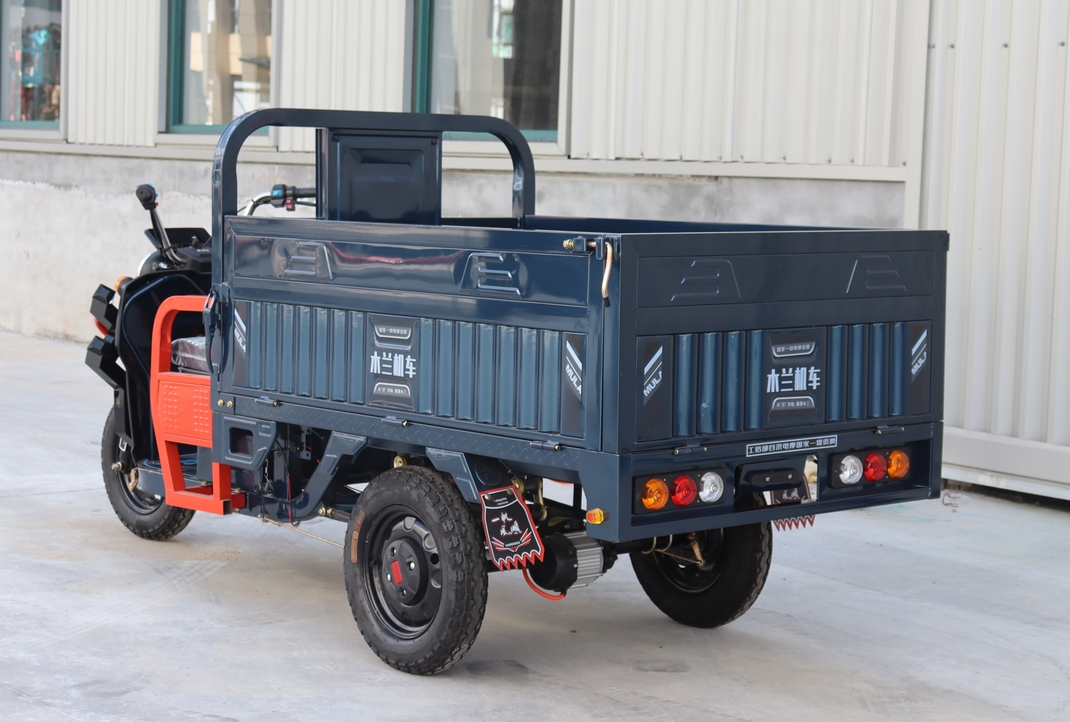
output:
<instances>
[{"instance_id":1,"label":"white corrugated wall section directly above the tricycle's tubular headrail","mask_svg":"<svg viewBox=\"0 0 1070 722\"><path fill-rule=\"evenodd\" d=\"M402 109L404 2L289 0L280 4L280 107ZM279 150L315 148L310 132L279 130Z\"/></svg>"}]
</instances>

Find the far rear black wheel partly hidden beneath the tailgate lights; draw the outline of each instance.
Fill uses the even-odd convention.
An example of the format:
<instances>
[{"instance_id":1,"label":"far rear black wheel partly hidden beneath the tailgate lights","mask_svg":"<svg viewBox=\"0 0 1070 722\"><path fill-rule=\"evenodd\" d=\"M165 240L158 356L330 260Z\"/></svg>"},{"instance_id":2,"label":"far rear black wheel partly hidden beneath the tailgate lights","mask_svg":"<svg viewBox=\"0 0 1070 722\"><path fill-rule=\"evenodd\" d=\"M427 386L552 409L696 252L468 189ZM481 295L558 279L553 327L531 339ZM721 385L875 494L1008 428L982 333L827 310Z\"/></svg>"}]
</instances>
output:
<instances>
[{"instance_id":1,"label":"far rear black wheel partly hidden beneath the tailgate lights","mask_svg":"<svg viewBox=\"0 0 1070 722\"><path fill-rule=\"evenodd\" d=\"M699 532L694 539L703 567L653 551L632 552L631 568L646 596L671 619L688 627L720 627L742 616L762 593L773 558L773 527L769 522L730 526ZM689 535L674 537L666 551L694 558Z\"/></svg>"}]
</instances>

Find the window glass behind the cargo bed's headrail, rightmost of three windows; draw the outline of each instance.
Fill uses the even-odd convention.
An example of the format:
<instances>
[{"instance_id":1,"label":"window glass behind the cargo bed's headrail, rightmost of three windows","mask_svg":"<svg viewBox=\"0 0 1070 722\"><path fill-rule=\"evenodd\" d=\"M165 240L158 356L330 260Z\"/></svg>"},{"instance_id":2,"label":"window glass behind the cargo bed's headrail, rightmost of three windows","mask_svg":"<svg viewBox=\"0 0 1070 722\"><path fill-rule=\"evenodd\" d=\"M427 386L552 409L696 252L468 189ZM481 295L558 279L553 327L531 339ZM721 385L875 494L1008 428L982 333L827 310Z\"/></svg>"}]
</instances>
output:
<instances>
[{"instance_id":1,"label":"window glass behind the cargo bed's headrail, rightmost of three windows","mask_svg":"<svg viewBox=\"0 0 1070 722\"><path fill-rule=\"evenodd\" d=\"M530 132L529 136L555 137L561 4L562 0L433 0L427 109L494 116Z\"/></svg>"}]
</instances>

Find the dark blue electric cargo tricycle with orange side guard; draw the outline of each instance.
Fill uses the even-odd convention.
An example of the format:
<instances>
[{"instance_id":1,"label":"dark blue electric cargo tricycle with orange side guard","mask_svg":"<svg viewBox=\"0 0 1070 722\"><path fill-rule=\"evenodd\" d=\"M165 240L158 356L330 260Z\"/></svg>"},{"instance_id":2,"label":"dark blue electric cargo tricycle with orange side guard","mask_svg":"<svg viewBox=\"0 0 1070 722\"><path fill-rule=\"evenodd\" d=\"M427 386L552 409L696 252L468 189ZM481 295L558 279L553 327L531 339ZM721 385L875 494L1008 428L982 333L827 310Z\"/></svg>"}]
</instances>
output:
<instances>
[{"instance_id":1,"label":"dark blue electric cargo tricycle with orange side guard","mask_svg":"<svg viewBox=\"0 0 1070 722\"><path fill-rule=\"evenodd\" d=\"M316 185L239 210L264 126L316 128ZM511 216L442 217L449 133L505 144ZM197 511L345 523L353 616L398 670L468 651L488 572L561 599L626 554L717 627L774 524L939 493L944 232L539 216L524 137L462 116L247 113L211 233L137 196L155 248L93 295L87 355L116 513L154 540Z\"/></svg>"}]
</instances>

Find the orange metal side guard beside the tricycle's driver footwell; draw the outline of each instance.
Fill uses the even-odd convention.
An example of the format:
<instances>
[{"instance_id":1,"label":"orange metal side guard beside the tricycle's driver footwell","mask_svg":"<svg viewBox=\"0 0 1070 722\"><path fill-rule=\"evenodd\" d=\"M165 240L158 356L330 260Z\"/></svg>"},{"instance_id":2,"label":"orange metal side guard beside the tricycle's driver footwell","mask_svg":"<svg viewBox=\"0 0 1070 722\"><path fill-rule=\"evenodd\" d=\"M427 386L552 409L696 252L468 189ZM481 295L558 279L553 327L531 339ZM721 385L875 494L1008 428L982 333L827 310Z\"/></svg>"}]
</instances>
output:
<instances>
[{"instance_id":1,"label":"orange metal side guard beside the tricycle's driver footwell","mask_svg":"<svg viewBox=\"0 0 1070 722\"><path fill-rule=\"evenodd\" d=\"M171 296L156 312L152 327L149 400L156 447L170 506L209 513L230 513L245 506L245 494L232 494L227 464L212 464L212 486L186 488L179 444L212 448L212 377L171 371L171 325L182 311L203 311L207 296Z\"/></svg>"}]
</instances>

